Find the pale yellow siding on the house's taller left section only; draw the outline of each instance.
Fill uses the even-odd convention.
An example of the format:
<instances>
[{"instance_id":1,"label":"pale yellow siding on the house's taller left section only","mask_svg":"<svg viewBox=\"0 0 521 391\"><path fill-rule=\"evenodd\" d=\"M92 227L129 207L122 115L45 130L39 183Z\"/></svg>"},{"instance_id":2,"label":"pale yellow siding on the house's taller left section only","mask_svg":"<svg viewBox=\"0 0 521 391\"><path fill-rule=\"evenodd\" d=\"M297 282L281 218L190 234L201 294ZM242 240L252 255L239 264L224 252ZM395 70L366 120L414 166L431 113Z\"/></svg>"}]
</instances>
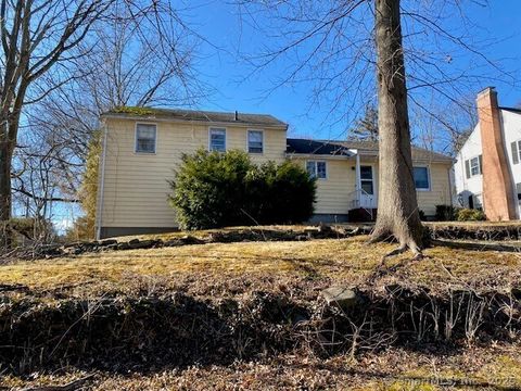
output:
<instances>
[{"instance_id":1,"label":"pale yellow siding on the house's taller left section only","mask_svg":"<svg viewBox=\"0 0 521 391\"><path fill-rule=\"evenodd\" d=\"M106 118L105 125L107 139L101 226L176 227L175 213L167 202L170 192L167 180L173 179L182 153L208 147L208 126L158 122L156 153L145 154L135 153L136 121ZM249 127L226 128L227 149L245 150ZM264 150L263 154L252 154L252 160L256 163L283 161L285 131L282 128L264 129Z\"/></svg>"}]
</instances>

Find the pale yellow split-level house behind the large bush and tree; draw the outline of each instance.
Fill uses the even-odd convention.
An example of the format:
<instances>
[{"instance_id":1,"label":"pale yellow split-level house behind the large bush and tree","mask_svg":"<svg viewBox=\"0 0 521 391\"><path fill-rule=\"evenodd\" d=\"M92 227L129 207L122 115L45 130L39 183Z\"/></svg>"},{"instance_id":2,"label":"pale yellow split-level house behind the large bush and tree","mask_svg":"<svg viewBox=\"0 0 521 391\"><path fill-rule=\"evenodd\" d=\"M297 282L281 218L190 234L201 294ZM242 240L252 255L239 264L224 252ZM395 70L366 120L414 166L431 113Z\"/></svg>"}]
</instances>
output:
<instances>
[{"instance_id":1,"label":"pale yellow split-level house behind the large bush and tree","mask_svg":"<svg viewBox=\"0 0 521 391\"><path fill-rule=\"evenodd\" d=\"M98 187L97 236L106 238L177 228L168 180L182 153L204 147L244 150L254 162L295 160L317 177L313 222L374 217L378 144L287 138L271 115L185 110L125 109L102 115L103 152ZM434 215L450 204L453 160L415 148L419 207Z\"/></svg>"}]
</instances>

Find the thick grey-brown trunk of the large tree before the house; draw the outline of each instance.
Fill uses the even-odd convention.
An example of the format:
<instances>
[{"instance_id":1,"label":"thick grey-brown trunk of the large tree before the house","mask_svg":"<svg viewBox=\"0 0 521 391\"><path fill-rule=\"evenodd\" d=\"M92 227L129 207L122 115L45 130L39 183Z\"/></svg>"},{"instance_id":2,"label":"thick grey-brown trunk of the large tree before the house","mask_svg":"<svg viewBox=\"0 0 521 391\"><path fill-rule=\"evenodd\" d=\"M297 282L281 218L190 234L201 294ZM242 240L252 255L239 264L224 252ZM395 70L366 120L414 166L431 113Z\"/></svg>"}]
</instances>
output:
<instances>
[{"instance_id":1,"label":"thick grey-brown trunk of the large tree before the house","mask_svg":"<svg viewBox=\"0 0 521 391\"><path fill-rule=\"evenodd\" d=\"M376 0L380 182L372 240L395 237L399 250L419 253L418 212L407 110L399 0Z\"/></svg>"}]
</instances>

